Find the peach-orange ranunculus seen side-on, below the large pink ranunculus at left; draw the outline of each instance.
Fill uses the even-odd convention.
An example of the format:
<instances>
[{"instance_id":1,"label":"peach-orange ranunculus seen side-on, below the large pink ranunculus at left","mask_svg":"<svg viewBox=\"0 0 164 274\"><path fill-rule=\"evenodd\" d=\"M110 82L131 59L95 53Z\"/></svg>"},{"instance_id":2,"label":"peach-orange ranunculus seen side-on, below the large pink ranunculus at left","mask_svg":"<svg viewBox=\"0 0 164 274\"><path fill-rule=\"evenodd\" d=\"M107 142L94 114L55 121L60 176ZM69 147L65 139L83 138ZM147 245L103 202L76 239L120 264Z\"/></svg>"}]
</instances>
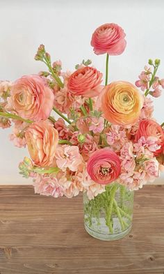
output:
<instances>
[{"instance_id":1,"label":"peach-orange ranunculus seen side-on, below the large pink ranunculus at left","mask_svg":"<svg viewBox=\"0 0 164 274\"><path fill-rule=\"evenodd\" d=\"M58 131L49 121L32 123L25 133L31 159L40 167L51 167L55 162Z\"/></svg>"}]
</instances>

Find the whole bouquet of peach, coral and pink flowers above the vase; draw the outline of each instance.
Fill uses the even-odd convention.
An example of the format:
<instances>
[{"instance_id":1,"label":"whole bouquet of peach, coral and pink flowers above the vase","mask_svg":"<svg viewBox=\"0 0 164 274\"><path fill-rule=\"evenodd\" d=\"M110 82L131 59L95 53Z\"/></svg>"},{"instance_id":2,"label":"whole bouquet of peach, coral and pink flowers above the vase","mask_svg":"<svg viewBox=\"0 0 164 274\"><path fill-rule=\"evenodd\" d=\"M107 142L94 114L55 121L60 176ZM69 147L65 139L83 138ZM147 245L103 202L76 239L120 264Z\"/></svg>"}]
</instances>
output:
<instances>
[{"instance_id":1,"label":"whole bouquet of peach, coral and pink flowers above the vase","mask_svg":"<svg viewBox=\"0 0 164 274\"><path fill-rule=\"evenodd\" d=\"M164 123L153 118L151 100L164 88L164 79L156 76L160 60L149 59L136 85L108 84L109 56L124 52L125 33L117 24L104 24L91 45L95 54L106 54L104 84L90 60L63 72L44 45L35 60L46 71L0 83L0 126L13 123L10 140L27 146L30 157L20 162L20 174L33 178L41 195L71 198L85 192L91 200L114 181L138 190L163 170Z\"/></svg>"}]
</instances>

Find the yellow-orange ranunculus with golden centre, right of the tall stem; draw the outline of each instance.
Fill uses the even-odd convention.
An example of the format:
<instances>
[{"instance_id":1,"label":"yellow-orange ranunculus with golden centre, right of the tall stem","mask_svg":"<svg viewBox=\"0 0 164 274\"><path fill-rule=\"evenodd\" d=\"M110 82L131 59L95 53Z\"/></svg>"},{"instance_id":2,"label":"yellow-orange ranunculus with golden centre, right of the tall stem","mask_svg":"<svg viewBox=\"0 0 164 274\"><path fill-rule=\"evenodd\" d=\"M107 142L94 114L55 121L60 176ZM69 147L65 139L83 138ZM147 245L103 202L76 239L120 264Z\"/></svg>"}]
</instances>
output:
<instances>
[{"instance_id":1,"label":"yellow-orange ranunculus with golden centre, right of the tall stem","mask_svg":"<svg viewBox=\"0 0 164 274\"><path fill-rule=\"evenodd\" d=\"M115 125L131 125L138 121L142 105L142 96L129 82L112 82L102 91L101 110L105 119Z\"/></svg>"}]
</instances>

